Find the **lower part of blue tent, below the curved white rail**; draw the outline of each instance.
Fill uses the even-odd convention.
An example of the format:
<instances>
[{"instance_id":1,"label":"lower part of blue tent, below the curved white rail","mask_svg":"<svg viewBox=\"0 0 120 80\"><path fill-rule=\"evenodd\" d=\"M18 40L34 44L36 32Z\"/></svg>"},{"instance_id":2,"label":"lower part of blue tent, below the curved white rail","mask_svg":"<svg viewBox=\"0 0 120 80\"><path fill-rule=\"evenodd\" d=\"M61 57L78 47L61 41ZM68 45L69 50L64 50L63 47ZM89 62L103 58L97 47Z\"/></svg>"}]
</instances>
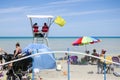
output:
<instances>
[{"instance_id":1,"label":"lower part of blue tent, below the curved white rail","mask_svg":"<svg viewBox=\"0 0 120 80\"><path fill-rule=\"evenodd\" d=\"M34 69L54 69L56 62L53 54L40 54L35 56L33 61Z\"/></svg>"}]
</instances>

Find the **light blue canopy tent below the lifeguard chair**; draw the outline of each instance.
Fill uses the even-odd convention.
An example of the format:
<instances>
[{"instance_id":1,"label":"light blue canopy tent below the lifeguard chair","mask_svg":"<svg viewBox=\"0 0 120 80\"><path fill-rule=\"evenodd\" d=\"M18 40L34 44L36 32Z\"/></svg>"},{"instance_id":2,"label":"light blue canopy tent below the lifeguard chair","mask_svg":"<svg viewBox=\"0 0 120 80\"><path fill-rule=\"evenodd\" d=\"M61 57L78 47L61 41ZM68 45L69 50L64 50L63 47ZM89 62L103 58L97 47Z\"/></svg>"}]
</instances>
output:
<instances>
[{"instance_id":1,"label":"light blue canopy tent below the lifeguard chair","mask_svg":"<svg viewBox=\"0 0 120 80\"><path fill-rule=\"evenodd\" d=\"M29 44L26 48L23 49L23 52L28 52L29 50L33 50L34 54L37 54L35 50L39 53L42 52L51 52L48 54L40 54L33 57L33 67L34 69L54 69L56 68L56 61L54 54L45 44Z\"/></svg>"}]
</instances>

